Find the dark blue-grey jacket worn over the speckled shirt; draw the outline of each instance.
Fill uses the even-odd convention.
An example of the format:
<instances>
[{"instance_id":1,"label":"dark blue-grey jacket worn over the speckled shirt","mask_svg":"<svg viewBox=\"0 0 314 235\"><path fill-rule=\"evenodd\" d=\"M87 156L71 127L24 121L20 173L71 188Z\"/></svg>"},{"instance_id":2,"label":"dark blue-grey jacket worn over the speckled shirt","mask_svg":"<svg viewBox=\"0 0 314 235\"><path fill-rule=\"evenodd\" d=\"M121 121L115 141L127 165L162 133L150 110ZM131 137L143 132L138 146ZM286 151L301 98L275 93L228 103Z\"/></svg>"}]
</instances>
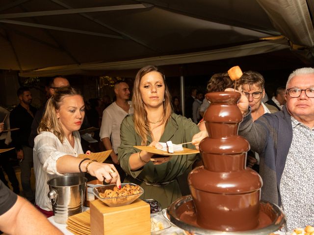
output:
<instances>
[{"instance_id":1,"label":"dark blue-grey jacket worn over the speckled shirt","mask_svg":"<svg viewBox=\"0 0 314 235\"><path fill-rule=\"evenodd\" d=\"M262 199L280 206L279 185L292 141L291 116L286 106L282 111L264 114L255 122L249 113L240 123L239 135L260 155Z\"/></svg>"}]
</instances>

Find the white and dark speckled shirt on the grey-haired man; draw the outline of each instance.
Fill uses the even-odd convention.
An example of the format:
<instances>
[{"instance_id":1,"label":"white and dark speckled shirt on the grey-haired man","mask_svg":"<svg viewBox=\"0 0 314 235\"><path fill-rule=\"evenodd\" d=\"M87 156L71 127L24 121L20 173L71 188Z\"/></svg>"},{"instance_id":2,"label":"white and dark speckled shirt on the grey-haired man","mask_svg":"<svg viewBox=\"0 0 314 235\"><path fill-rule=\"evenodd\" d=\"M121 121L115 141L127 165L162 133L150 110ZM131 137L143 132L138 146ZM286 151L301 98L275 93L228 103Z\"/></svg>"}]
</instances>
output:
<instances>
[{"instance_id":1,"label":"white and dark speckled shirt on the grey-haired man","mask_svg":"<svg viewBox=\"0 0 314 235\"><path fill-rule=\"evenodd\" d=\"M314 128L291 117L293 137L280 181L287 231L314 225Z\"/></svg>"}]
</instances>

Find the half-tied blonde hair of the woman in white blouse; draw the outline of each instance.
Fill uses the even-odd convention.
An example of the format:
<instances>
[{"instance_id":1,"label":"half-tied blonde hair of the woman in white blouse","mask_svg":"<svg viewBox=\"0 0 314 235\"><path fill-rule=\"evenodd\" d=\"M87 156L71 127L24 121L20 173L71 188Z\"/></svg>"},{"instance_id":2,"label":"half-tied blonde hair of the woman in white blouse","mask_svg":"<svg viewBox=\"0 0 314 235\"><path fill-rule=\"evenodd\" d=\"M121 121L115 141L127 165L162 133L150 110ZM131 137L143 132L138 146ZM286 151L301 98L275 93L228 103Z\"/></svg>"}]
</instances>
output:
<instances>
[{"instance_id":1,"label":"half-tied blonde hair of the woman in white blouse","mask_svg":"<svg viewBox=\"0 0 314 235\"><path fill-rule=\"evenodd\" d=\"M42 131L49 131L52 132L61 142L64 141L64 132L61 124L58 121L56 112L60 109L63 99L66 96L72 95L81 94L77 89L70 86L60 87L54 91L52 97L50 97L47 101L44 116L41 119L37 128L38 133Z\"/></svg>"}]
</instances>

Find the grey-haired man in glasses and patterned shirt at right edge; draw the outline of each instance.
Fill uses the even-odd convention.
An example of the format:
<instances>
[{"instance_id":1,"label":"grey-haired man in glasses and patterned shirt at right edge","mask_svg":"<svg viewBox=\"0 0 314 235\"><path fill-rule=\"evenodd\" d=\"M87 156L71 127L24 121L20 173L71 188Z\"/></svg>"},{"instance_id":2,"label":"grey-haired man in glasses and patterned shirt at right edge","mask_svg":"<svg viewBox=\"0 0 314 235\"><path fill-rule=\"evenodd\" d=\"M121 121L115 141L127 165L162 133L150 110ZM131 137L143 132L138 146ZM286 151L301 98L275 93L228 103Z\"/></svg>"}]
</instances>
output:
<instances>
[{"instance_id":1,"label":"grey-haired man in glasses and patterned shirt at right edge","mask_svg":"<svg viewBox=\"0 0 314 235\"><path fill-rule=\"evenodd\" d=\"M262 199L283 208L285 229L291 230L313 224L314 219L314 68L289 75L286 99L282 111L253 122L253 109L242 95L239 134L260 154Z\"/></svg>"}]
</instances>

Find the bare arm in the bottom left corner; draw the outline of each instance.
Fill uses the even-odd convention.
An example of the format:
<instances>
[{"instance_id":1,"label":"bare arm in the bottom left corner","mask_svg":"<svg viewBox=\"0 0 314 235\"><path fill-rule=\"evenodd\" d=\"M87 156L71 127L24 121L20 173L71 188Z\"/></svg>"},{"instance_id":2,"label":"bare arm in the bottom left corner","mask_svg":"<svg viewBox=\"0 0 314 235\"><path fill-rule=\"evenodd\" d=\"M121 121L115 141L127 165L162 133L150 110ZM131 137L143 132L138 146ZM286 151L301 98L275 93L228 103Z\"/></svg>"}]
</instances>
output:
<instances>
[{"instance_id":1,"label":"bare arm in the bottom left corner","mask_svg":"<svg viewBox=\"0 0 314 235\"><path fill-rule=\"evenodd\" d=\"M9 211L0 215L0 230L9 235L63 235L45 215L20 196Z\"/></svg>"}]
</instances>

